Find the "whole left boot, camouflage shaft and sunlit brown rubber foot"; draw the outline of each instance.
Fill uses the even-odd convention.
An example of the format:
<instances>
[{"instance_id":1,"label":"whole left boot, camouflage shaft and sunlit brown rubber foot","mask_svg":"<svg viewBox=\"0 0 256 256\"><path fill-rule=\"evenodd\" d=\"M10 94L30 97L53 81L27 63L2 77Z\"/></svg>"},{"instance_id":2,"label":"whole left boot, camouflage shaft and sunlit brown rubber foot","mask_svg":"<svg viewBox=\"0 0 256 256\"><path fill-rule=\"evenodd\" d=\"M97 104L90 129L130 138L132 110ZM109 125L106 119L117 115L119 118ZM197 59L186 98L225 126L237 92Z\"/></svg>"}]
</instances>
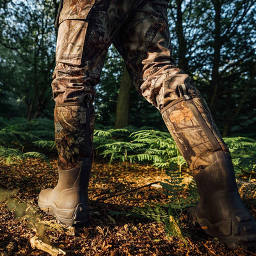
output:
<instances>
[{"instance_id":1,"label":"whole left boot, camouflage shaft and sunlit brown rubber foot","mask_svg":"<svg viewBox=\"0 0 256 256\"><path fill-rule=\"evenodd\" d=\"M88 182L92 168L94 111L80 103L56 104L58 184L40 192L40 209L68 226L89 221Z\"/></svg>"}]
</instances>

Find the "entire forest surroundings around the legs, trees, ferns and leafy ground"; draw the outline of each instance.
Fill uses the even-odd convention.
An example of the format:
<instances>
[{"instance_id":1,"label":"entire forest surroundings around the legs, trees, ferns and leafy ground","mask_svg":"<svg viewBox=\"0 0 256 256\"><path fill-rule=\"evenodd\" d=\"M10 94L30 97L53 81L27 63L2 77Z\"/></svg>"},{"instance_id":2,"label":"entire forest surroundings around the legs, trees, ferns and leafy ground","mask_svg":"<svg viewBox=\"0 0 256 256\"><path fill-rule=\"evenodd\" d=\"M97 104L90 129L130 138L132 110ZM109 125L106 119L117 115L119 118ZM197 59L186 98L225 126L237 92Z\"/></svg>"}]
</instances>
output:
<instances>
[{"instance_id":1,"label":"entire forest surroundings around the legs, trees, ferns and leafy ground","mask_svg":"<svg viewBox=\"0 0 256 256\"><path fill-rule=\"evenodd\" d=\"M17 255L42 255L40 250L31 250L29 239L35 235L61 246L70 255L95 255L94 251L97 255L214 255L214 239L195 230L191 237L183 237L191 232L184 211L198 201L195 182L159 111L138 95L113 46L104 63L101 83L96 86L94 103L93 145L99 161L93 165L89 188L94 212L92 227L78 230L76 236L68 235L67 239L67 230L58 226L57 234L56 228L52 228L54 222L38 209L36 198L40 189L53 186L57 180L51 81L58 4L59 0L0 0L0 210L4 212L0 216L0 253L6 250ZM209 104L230 148L237 183L242 192L246 191L241 195L253 216L255 7L256 0L170 0L168 7L173 58L193 78ZM119 160L120 165L116 161L106 164L100 156L107 157L109 163ZM161 182L163 191L150 184L148 189L148 182L154 186ZM137 186L140 187L134 189ZM155 222L137 225L134 216L162 224L157 224L157 228ZM186 231L184 234L177 223ZM127 236L124 240L120 239L121 233ZM172 243L166 234L181 240ZM180 246L180 241L190 247ZM94 251L92 244L96 244ZM153 244L150 250L156 254L148 251L148 244ZM221 255L248 255L248 251L243 254L240 249L237 254L229 249L223 254L221 246L218 250ZM180 251L182 254L177 253Z\"/></svg>"}]
</instances>

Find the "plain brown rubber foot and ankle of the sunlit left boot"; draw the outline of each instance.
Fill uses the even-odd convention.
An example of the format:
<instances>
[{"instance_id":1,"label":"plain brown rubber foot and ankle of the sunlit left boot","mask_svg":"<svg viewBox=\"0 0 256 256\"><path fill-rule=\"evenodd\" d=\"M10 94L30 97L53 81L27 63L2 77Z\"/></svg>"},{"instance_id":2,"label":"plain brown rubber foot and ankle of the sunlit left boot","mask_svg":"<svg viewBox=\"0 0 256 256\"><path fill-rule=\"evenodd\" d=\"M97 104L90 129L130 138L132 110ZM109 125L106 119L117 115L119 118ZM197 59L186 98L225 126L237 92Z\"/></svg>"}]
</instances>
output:
<instances>
[{"instance_id":1,"label":"plain brown rubber foot and ankle of the sunlit left boot","mask_svg":"<svg viewBox=\"0 0 256 256\"><path fill-rule=\"evenodd\" d=\"M67 226L89 222L88 180L92 160L84 159L82 166L69 170L58 168L59 180L54 189L40 192L38 205L47 214L57 217Z\"/></svg>"}]
</instances>

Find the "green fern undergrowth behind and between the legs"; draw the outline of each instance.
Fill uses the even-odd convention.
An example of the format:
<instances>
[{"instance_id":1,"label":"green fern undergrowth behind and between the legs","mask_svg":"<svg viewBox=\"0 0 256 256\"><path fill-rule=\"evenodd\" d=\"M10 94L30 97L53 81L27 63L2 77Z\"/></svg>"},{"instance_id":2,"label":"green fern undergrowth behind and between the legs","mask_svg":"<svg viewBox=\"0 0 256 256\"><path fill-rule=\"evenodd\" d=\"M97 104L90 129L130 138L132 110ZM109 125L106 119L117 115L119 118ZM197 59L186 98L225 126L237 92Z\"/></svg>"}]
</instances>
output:
<instances>
[{"instance_id":1,"label":"green fern undergrowth behind and between the legs","mask_svg":"<svg viewBox=\"0 0 256 256\"><path fill-rule=\"evenodd\" d=\"M49 161L49 154L56 154L54 124L50 120L40 118L27 122L24 118L0 118L0 128L0 161L12 164L17 159L24 160L28 157ZM256 171L256 140L244 137L224 140L230 148L236 175L249 173L251 178ZM168 236L179 236L186 243L179 218L182 212L196 205L198 193L193 180L184 189L182 167L186 166L186 161L180 156L172 136L168 132L151 129L135 131L132 127L106 131L96 129L93 145L95 156L105 157L109 163L119 161L126 164L152 164L167 172L170 179L161 185L170 198L169 204L145 204L143 208L134 208L131 212L121 214L163 222Z\"/></svg>"}]
</instances>

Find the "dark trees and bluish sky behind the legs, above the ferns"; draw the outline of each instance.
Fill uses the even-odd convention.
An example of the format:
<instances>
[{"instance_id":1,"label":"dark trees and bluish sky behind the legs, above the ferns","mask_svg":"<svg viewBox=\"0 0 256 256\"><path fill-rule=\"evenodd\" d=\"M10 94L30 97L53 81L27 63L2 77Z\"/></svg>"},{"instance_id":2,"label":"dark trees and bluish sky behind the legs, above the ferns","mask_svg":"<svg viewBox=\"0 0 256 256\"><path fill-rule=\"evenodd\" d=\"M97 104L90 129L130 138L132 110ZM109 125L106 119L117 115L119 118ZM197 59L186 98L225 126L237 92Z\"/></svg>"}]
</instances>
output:
<instances>
[{"instance_id":1,"label":"dark trees and bluish sky behind the legs, above the ferns","mask_svg":"<svg viewBox=\"0 0 256 256\"><path fill-rule=\"evenodd\" d=\"M223 136L256 137L255 2L175 0L168 8L173 56L193 77ZM19 118L53 120L57 10L57 0L0 1L2 128L10 118L14 123ZM158 111L132 86L113 47L96 90L97 127L166 131Z\"/></svg>"}]
</instances>

